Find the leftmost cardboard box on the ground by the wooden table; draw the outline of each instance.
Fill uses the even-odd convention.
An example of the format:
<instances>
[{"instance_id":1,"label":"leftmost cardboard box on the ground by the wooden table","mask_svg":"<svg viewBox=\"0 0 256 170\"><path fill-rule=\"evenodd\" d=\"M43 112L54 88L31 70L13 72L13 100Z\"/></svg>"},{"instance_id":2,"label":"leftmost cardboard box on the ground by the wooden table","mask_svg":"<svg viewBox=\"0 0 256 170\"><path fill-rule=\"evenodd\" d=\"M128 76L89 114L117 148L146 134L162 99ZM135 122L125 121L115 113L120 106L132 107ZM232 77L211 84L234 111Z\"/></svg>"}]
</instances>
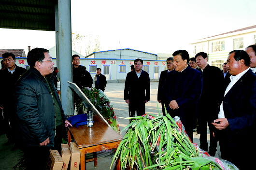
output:
<instances>
[{"instance_id":1,"label":"leftmost cardboard box on the ground by the wooden table","mask_svg":"<svg viewBox=\"0 0 256 170\"><path fill-rule=\"evenodd\" d=\"M50 149L50 156L46 170L61 170L63 163L63 159L59 155L58 151Z\"/></svg>"}]
</instances>

